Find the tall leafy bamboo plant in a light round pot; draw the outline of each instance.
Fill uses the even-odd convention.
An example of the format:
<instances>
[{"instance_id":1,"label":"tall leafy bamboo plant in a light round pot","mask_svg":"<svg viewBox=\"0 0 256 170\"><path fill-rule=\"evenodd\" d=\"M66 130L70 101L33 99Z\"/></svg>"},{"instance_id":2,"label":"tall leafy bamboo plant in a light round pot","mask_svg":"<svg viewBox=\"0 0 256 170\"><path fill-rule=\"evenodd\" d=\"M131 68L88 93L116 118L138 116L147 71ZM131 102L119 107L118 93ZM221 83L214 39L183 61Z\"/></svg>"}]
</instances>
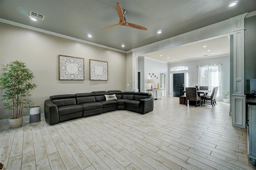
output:
<instances>
[{"instance_id":1,"label":"tall leafy bamboo plant in a light round pot","mask_svg":"<svg viewBox=\"0 0 256 170\"><path fill-rule=\"evenodd\" d=\"M10 114L10 127L18 128L22 126L22 109L28 108L31 100L30 90L37 87L32 83L34 74L26 64L21 61L12 61L7 65L2 65L0 74L0 90L3 90L2 100L4 109L12 110Z\"/></svg>"}]
</instances>

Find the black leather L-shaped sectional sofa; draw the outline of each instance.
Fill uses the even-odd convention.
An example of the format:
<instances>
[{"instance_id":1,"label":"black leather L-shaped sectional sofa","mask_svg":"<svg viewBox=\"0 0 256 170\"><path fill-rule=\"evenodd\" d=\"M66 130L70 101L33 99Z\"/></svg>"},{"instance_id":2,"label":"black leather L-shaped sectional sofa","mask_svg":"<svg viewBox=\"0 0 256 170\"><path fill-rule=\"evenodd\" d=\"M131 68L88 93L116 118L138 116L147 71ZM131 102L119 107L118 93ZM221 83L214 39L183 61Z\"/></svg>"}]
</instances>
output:
<instances>
[{"instance_id":1,"label":"black leather L-shaped sectional sofa","mask_svg":"<svg viewBox=\"0 0 256 170\"><path fill-rule=\"evenodd\" d=\"M117 99L106 101L105 95L113 94ZM44 101L45 121L49 125L116 110L145 114L153 109L154 97L151 93L93 91L74 95L54 95Z\"/></svg>"}]
</instances>

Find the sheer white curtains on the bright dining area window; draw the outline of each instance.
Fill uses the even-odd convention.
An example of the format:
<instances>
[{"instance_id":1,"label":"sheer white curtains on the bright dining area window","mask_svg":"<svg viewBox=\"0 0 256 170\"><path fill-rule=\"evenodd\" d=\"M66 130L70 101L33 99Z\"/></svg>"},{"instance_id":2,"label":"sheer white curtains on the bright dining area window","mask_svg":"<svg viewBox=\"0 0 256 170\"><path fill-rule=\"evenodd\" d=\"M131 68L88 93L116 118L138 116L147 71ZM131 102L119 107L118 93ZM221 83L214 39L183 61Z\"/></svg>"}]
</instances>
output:
<instances>
[{"instance_id":1,"label":"sheer white curtains on the bright dining area window","mask_svg":"<svg viewBox=\"0 0 256 170\"><path fill-rule=\"evenodd\" d=\"M198 85L208 86L209 90L218 87L216 99L221 99L221 74L221 64L198 66Z\"/></svg>"}]
</instances>

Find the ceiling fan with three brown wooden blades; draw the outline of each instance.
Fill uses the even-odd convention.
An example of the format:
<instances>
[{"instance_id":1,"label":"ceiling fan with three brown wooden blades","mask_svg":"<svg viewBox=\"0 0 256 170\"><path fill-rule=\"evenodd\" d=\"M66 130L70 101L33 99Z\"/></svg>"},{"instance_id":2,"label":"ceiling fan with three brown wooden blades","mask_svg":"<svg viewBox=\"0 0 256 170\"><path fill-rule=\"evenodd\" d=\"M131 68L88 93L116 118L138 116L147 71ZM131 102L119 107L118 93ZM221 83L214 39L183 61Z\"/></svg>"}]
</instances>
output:
<instances>
[{"instance_id":1,"label":"ceiling fan with three brown wooden blades","mask_svg":"<svg viewBox=\"0 0 256 170\"><path fill-rule=\"evenodd\" d=\"M139 30L148 30L145 27L142 27L142 26L139 26L139 25L136 25L136 24L132 24L132 23L126 22L126 19L124 17L124 14L126 13L126 10L123 10L119 3L116 3L116 10L117 10L117 14L118 14L118 16L120 18L120 21L118 22L118 24L115 24L113 26L109 26L109 27L103 28L102 30L106 30L108 28L113 28L115 26L128 26L128 27L132 27L132 28L137 28Z\"/></svg>"}]
</instances>

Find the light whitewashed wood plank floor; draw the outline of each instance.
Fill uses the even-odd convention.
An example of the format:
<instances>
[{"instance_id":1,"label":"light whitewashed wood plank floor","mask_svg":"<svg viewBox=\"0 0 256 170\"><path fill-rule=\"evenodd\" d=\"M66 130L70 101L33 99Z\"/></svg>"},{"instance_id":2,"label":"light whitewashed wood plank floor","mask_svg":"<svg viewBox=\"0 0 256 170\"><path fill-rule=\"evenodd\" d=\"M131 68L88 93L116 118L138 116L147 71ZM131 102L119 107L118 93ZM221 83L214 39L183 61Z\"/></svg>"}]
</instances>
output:
<instances>
[{"instance_id":1,"label":"light whitewashed wood plank floor","mask_svg":"<svg viewBox=\"0 0 256 170\"><path fill-rule=\"evenodd\" d=\"M140 115L114 111L49 126L0 129L0 162L7 170L252 170L246 129L233 127L229 105L154 101Z\"/></svg>"}]
</instances>

